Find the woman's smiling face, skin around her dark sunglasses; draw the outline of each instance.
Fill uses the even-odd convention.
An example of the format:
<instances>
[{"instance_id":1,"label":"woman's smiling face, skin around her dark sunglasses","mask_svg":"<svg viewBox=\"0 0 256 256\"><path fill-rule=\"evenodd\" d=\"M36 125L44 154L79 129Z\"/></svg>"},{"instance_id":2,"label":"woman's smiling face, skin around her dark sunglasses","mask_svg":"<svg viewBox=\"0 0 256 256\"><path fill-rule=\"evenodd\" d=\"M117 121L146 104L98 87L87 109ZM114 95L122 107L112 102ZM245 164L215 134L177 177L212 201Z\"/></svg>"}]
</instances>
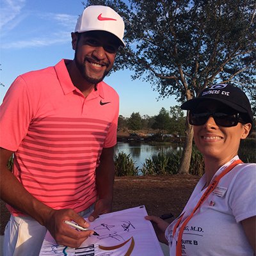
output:
<instances>
[{"instance_id":1,"label":"woman's smiling face, skin around her dark sunglasses","mask_svg":"<svg viewBox=\"0 0 256 256\"><path fill-rule=\"evenodd\" d=\"M198 108L213 112L228 107L221 102L211 100L198 104ZM233 127L222 127L215 123L212 116L209 116L204 125L193 126L195 143L205 159L211 157L227 163L237 155L240 140L248 136L251 126L251 124L238 123Z\"/></svg>"}]
</instances>

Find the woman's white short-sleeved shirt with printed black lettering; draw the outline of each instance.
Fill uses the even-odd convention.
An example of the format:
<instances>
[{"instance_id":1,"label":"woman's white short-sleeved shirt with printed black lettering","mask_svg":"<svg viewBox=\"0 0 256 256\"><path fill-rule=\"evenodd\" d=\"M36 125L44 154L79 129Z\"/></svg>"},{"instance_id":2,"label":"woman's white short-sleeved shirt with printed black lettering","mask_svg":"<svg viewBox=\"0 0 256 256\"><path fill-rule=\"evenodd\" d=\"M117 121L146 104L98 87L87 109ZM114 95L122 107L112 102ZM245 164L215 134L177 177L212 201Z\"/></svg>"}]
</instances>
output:
<instances>
[{"instance_id":1,"label":"woman's white short-sleeved shirt with printed black lettering","mask_svg":"<svg viewBox=\"0 0 256 256\"><path fill-rule=\"evenodd\" d=\"M215 179L227 166L239 159L234 157L216 172ZM204 175L196 185L179 225L195 209L204 194ZM211 183L210 183L211 184ZM183 213L182 212L182 213ZM195 212L182 234L182 256L254 255L241 221L256 215L256 164L238 164L220 179L217 187ZM178 219L177 219L178 220ZM165 236L170 246L170 256L175 256L179 228L173 237L173 221Z\"/></svg>"}]
</instances>

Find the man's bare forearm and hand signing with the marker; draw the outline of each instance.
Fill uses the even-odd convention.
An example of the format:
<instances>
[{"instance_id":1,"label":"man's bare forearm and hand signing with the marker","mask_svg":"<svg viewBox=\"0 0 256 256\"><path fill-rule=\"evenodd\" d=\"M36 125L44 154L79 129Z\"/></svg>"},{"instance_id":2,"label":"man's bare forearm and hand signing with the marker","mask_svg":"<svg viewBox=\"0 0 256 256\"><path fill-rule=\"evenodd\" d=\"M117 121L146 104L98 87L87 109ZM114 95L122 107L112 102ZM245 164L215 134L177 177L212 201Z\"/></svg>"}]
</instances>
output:
<instances>
[{"instance_id":1,"label":"man's bare forearm and hand signing with the marker","mask_svg":"<svg viewBox=\"0 0 256 256\"><path fill-rule=\"evenodd\" d=\"M6 167L12 154L12 151L0 148L1 199L44 225L58 244L79 247L88 236L93 234L92 230L78 232L64 221L73 220L86 228L90 225L72 209L54 210L31 195Z\"/></svg>"}]
</instances>

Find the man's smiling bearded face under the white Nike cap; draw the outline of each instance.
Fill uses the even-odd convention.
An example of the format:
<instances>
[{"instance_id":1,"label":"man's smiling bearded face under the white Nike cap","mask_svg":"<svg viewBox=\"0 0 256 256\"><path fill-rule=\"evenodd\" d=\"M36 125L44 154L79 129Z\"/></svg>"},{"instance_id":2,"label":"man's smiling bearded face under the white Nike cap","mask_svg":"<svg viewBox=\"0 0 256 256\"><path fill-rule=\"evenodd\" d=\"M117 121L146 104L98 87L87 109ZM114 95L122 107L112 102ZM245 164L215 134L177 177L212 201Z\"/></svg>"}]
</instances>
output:
<instances>
[{"instance_id":1,"label":"man's smiling bearded face under the white Nike cap","mask_svg":"<svg viewBox=\"0 0 256 256\"><path fill-rule=\"evenodd\" d=\"M106 31L81 33L79 40L73 34L73 49L76 49L76 66L88 83L97 84L113 67L116 51L120 45L116 36Z\"/></svg>"}]
</instances>

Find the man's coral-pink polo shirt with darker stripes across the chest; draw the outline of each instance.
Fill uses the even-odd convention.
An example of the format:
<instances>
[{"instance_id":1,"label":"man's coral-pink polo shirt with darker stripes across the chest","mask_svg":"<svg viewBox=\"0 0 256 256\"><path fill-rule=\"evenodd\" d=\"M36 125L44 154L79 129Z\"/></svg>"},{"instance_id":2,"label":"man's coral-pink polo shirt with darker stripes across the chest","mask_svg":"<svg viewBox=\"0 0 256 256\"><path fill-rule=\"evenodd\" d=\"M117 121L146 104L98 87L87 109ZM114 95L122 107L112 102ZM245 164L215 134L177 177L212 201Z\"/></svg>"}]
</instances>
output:
<instances>
[{"instance_id":1,"label":"man's coral-pink polo shirt with darker stripes across the chest","mask_svg":"<svg viewBox=\"0 0 256 256\"><path fill-rule=\"evenodd\" d=\"M80 212L96 201L102 148L116 144L119 98L104 82L84 98L68 61L15 79L0 107L0 147L15 152L13 174L29 193Z\"/></svg>"}]
</instances>

